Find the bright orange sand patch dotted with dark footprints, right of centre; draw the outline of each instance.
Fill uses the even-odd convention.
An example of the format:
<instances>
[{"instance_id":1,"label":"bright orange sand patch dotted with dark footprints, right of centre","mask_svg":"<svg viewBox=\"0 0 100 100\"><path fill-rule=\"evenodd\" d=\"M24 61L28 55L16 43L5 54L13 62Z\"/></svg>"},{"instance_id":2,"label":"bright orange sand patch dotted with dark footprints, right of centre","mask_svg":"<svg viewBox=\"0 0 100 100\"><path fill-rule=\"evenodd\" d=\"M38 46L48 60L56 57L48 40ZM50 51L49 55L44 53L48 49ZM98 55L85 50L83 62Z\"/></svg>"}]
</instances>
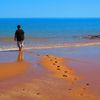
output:
<instances>
[{"instance_id":1,"label":"bright orange sand patch dotted with dark footprints, right of centre","mask_svg":"<svg viewBox=\"0 0 100 100\"><path fill-rule=\"evenodd\" d=\"M79 80L79 77L75 75L74 71L64 64L63 58L46 55L44 56L43 64L51 69L59 78L65 78L70 81Z\"/></svg>"}]
</instances>

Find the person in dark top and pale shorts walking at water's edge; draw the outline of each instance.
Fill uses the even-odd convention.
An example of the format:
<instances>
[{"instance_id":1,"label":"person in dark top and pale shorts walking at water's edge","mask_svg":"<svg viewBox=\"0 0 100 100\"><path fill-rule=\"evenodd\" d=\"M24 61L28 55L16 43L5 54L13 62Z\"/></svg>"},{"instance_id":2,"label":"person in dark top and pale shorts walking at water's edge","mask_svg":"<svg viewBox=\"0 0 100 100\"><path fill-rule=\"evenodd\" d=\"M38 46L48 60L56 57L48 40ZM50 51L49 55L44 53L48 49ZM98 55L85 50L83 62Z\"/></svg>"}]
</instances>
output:
<instances>
[{"instance_id":1,"label":"person in dark top and pale shorts walking at water's edge","mask_svg":"<svg viewBox=\"0 0 100 100\"><path fill-rule=\"evenodd\" d=\"M24 31L21 29L21 25L17 26L17 30L15 32L14 40L17 41L17 46L19 51L22 51L23 42L24 42Z\"/></svg>"}]
</instances>

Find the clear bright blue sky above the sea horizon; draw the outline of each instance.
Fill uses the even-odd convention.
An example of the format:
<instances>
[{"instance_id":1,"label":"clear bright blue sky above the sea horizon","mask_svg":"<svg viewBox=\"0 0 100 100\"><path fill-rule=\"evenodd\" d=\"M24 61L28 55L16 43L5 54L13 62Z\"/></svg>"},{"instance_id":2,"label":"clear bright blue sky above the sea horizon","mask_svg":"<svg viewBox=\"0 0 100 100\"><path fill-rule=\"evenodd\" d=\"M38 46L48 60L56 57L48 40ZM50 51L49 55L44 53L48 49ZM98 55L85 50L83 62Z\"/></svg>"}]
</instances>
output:
<instances>
[{"instance_id":1,"label":"clear bright blue sky above the sea horizon","mask_svg":"<svg viewBox=\"0 0 100 100\"><path fill-rule=\"evenodd\" d=\"M100 0L0 0L0 17L100 17Z\"/></svg>"}]
</instances>

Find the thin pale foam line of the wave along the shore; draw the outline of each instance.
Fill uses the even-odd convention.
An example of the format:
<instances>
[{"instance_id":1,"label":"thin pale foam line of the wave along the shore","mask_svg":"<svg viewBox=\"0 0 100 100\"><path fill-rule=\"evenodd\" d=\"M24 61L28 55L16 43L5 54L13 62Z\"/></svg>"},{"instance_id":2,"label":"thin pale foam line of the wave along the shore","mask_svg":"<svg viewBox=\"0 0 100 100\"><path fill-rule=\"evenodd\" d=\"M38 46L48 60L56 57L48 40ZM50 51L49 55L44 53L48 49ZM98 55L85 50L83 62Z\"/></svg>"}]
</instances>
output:
<instances>
[{"instance_id":1,"label":"thin pale foam line of the wave along the shore","mask_svg":"<svg viewBox=\"0 0 100 100\"><path fill-rule=\"evenodd\" d=\"M81 47L81 46L100 46L100 42L89 42L89 43L73 43L73 44L55 44L55 45L45 45L45 46L27 46L24 47L25 50L29 49L49 49L49 48L64 48L64 47ZM0 47L0 51L16 51L17 47Z\"/></svg>"}]
</instances>

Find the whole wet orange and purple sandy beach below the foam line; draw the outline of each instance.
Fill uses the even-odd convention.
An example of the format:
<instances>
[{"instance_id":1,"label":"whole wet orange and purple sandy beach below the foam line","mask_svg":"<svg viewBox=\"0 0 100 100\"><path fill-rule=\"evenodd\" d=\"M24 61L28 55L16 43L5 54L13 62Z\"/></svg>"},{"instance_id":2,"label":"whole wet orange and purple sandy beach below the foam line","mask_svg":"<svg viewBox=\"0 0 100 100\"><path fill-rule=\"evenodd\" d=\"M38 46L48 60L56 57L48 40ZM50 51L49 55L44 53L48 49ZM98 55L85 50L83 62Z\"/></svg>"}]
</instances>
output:
<instances>
[{"instance_id":1,"label":"whole wet orange and purple sandy beach below the foam line","mask_svg":"<svg viewBox=\"0 0 100 100\"><path fill-rule=\"evenodd\" d=\"M0 52L0 100L100 100L100 47Z\"/></svg>"}]
</instances>

